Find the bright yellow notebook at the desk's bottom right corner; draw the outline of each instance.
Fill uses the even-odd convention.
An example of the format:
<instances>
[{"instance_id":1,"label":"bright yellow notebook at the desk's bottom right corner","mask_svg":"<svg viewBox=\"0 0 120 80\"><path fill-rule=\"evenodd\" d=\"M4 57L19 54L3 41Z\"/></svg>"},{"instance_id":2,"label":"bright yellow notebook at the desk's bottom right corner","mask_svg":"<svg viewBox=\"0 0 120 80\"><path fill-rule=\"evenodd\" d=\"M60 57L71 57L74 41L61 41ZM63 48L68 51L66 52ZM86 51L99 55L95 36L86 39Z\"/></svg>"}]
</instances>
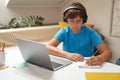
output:
<instances>
[{"instance_id":1,"label":"bright yellow notebook at the desk's bottom right corner","mask_svg":"<svg viewBox=\"0 0 120 80\"><path fill-rule=\"evenodd\" d=\"M115 72L86 72L86 80L120 80L120 73Z\"/></svg>"}]
</instances>

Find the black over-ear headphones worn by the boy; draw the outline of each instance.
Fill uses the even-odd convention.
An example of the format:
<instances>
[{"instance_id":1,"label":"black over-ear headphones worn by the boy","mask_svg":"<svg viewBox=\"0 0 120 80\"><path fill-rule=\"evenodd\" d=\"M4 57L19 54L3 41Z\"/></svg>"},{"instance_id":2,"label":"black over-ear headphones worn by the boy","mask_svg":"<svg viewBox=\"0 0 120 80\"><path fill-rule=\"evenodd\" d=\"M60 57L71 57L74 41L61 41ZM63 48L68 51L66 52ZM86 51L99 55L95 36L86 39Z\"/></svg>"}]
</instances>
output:
<instances>
[{"instance_id":1,"label":"black over-ear headphones worn by the boy","mask_svg":"<svg viewBox=\"0 0 120 80\"><path fill-rule=\"evenodd\" d=\"M81 7L78 7L78 6L70 6L70 7L67 7L64 12L63 12L63 21L67 22L67 20L65 19L65 14L68 10L71 10L71 9L75 9L75 10L80 10L82 11L83 13L85 13L85 18L83 19L83 23L87 22L87 13L86 13L86 10L84 10L83 8Z\"/></svg>"}]
</instances>

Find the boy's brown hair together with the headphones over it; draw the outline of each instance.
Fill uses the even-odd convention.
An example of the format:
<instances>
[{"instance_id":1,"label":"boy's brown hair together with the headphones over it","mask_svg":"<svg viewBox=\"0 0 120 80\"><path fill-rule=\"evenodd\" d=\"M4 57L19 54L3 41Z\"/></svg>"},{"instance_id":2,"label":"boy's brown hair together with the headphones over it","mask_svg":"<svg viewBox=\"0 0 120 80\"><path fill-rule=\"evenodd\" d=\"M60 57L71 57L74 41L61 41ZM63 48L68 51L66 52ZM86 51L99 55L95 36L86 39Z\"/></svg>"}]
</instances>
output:
<instances>
[{"instance_id":1,"label":"boy's brown hair together with the headphones over it","mask_svg":"<svg viewBox=\"0 0 120 80\"><path fill-rule=\"evenodd\" d=\"M79 2L73 2L63 12L63 21L67 22L67 18L74 19L77 16L83 18L83 24L87 22L86 8Z\"/></svg>"}]
</instances>

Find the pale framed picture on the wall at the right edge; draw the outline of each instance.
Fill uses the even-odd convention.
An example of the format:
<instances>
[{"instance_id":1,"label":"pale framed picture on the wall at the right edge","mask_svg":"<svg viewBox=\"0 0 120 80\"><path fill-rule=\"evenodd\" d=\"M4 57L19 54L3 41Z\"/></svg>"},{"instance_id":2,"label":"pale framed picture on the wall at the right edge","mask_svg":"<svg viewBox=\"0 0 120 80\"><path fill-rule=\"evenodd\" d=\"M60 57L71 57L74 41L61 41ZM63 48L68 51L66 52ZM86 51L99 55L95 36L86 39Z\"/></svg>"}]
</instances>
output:
<instances>
[{"instance_id":1,"label":"pale framed picture on the wall at the right edge","mask_svg":"<svg viewBox=\"0 0 120 80\"><path fill-rule=\"evenodd\" d=\"M113 0L110 35L120 37L120 0Z\"/></svg>"}]
</instances>

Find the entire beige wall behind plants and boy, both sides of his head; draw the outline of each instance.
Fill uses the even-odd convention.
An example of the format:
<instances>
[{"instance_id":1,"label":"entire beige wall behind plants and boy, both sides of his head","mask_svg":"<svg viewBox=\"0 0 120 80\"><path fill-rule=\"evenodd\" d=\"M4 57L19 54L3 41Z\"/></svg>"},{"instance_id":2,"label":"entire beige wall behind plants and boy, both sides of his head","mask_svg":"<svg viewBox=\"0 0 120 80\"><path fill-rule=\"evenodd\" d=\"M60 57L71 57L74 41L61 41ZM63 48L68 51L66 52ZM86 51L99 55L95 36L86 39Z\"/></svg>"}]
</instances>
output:
<instances>
[{"instance_id":1,"label":"entire beige wall behind plants and boy, both sides of his head","mask_svg":"<svg viewBox=\"0 0 120 80\"><path fill-rule=\"evenodd\" d=\"M85 5L88 13L88 23L94 24L94 29L105 35L105 43L110 47L114 62L120 57L120 37L110 35L112 25L113 0L69 0L61 7L12 7L4 6L0 0L0 23L8 23L13 17L40 15L45 18L44 23L58 23L62 20L62 12L72 1L79 1Z\"/></svg>"}]
</instances>

